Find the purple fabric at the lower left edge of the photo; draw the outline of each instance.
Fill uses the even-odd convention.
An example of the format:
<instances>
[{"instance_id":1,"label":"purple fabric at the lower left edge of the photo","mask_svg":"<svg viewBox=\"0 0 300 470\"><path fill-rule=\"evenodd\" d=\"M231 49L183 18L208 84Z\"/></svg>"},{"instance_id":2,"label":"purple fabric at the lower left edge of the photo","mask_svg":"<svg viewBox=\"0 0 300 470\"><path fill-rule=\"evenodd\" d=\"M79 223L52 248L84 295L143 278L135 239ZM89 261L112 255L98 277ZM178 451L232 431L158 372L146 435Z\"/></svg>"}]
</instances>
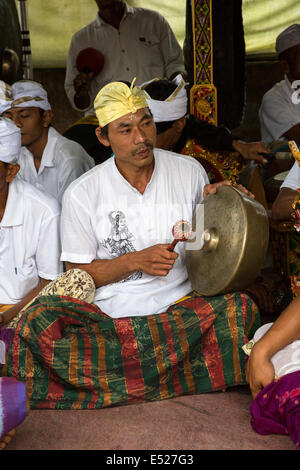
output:
<instances>
[{"instance_id":1,"label":"purple fabric at the lower left edge of the photo","mask_svg":"<svg viewBox=\"0 0 300 470\"><path fill-rule=\"evenodd\" d=\"M0 377L0 438L26 418L26 384Z\"/></svg>"}]
</instances>

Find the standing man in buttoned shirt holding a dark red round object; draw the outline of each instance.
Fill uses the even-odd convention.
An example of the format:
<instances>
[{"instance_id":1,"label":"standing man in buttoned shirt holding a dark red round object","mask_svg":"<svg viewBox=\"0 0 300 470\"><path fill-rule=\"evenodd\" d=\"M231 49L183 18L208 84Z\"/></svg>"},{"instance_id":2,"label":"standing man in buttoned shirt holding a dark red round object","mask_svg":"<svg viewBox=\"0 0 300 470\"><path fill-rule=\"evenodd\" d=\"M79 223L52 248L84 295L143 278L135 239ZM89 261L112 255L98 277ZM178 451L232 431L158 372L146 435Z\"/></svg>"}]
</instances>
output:
<instances>
[{"instance_id":1,"label":"standing man in buttoned shirt holding a dark red round object","mask_svg":"<svg viewBox=\"0 0 300 470\"><path fill-rule=\"evenodd\" d=\"M154 77L172 78L185 73L183 54L169 24L159 13L134 8L124 0L96 0L97 18L75 33L71 40L65 90L71 105L86 114L95 114L96 94L116 80L136 84ZM78 73L78 53L93 47L104 56L100 74Z\"/></svg>"}]
</instances>

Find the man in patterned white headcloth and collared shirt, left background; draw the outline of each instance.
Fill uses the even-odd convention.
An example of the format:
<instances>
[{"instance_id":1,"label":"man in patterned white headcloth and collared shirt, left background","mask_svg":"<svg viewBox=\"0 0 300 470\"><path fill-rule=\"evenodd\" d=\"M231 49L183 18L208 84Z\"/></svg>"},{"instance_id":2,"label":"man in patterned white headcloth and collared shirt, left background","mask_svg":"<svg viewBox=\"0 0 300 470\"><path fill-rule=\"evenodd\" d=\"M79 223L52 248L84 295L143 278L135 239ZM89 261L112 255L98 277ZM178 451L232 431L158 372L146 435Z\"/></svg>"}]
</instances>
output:
<instances>
[{"instance_id":1,"label":"man in patterned white headcloth and collared shirt, left background","mask_svg":"<svg viewBox=\"0 0 300 470\"><path fill-rule=\"evenodd\" d=\"M81 145L50 125L53 113L47 92L39 83L15 82L11 93L11 101L1 106L0 113L21 129L20 176L61 202L68 185L92 168L94 161Z\"/></svg>"}]
</instances>

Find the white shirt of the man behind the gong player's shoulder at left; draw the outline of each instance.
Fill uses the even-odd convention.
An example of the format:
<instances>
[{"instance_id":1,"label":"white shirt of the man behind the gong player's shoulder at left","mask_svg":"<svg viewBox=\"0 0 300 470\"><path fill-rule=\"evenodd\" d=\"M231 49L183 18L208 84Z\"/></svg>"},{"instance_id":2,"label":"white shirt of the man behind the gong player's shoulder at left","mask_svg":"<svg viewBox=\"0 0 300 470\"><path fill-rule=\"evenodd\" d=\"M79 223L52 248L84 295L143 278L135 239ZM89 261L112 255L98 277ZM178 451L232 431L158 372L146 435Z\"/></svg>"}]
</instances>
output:
<instances>
[{"instance_id":1,"label":"white shirt of the man behind the gong player's shoulder at left","mask_svg":"<svg viewBox=\"0 0 300 470\"><path fill-rule=\"evenodd\" d=\"M36 188L61 202L69 184L95 166L93 158L81 145L49 127L48 141L37 171L32 153L22 147L19 157L20 176Z\"/></svg>"}]
</instances>

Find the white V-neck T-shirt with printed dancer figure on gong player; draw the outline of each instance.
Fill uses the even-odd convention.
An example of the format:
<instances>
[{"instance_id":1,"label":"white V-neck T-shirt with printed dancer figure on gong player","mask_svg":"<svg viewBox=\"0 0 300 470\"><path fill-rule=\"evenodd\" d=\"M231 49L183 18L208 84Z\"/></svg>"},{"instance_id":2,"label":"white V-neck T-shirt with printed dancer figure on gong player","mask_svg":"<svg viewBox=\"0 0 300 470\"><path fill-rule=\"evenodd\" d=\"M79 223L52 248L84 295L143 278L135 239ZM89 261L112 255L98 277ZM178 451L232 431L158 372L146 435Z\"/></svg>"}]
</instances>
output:
<instances>
[{"instance_id":1,"label":"white V-neck T-shirt with printed dancer figure on gong player","mask_svg":"<svg viewBox=\"0 0 300 470\"><path fill-rule=\"evenodd\" d=\"M62 261L91 263L158 243L171 243L179 220L192 222L208 177L193 158L155 149L155 167L141 194L120 174L115 158L73 182L63 197ZM111 317L165 311L190 290L185 249L166 277L137 271L123 281L96 289L94 303Z\"/></svg>"}]
</instances>

